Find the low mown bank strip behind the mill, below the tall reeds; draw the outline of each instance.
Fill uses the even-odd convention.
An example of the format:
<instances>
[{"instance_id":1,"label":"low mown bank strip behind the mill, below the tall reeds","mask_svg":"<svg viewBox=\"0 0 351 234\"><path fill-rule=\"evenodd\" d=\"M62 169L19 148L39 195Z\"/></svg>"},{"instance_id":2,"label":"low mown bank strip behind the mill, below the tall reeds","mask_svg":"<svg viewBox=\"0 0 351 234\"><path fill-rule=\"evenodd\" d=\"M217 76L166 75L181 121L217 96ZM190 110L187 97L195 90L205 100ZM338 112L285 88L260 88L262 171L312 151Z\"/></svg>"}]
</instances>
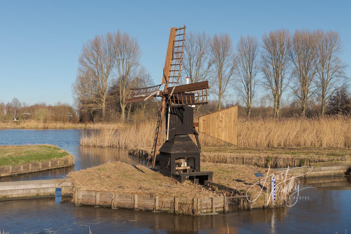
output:
<instances>
[{"instance_id":1,"label":"low mown bank strip behind the mill, below the tall reeds","mask_svg":"<svg viewBox=\"0 0 351 234\"><path fill-rule=\"evenodd\" d=\"M271 166L272 168L351 160L349 148L203 146L201 151L200 159L203 162ZM151 147L132 148L128 153L131 156L145 158L150 155Z\"/></svg>"}]
</instances>

